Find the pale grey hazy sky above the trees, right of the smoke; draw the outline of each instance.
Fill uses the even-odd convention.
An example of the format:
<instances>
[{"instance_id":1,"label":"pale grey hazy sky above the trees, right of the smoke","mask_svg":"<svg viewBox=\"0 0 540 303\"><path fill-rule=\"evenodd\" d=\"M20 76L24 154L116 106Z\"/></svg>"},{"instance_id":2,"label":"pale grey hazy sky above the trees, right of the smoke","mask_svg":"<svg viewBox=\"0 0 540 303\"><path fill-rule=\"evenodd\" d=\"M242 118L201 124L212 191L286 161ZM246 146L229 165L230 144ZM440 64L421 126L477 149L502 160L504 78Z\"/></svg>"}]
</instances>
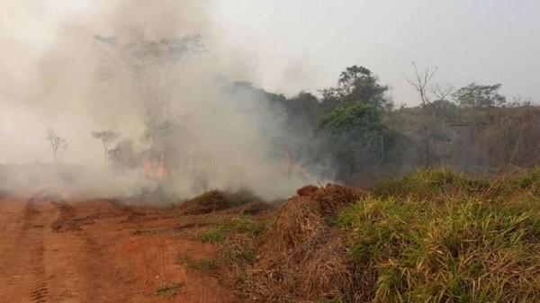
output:
<instances>
[{"instance_id":1,"label":"pale grey hazy sky above the trees, right of the smoke","mask_svg":"<svg viewBox=\"0 0 540 303\"><path fill-rule=\"evenodd\" d=\"M411 61L455 86L501 83L540 101L540 0L218 1L212 20L257 54L260 84L292 94L334 85L363 65L416 103Z\"/></svg>"}]
</instances>

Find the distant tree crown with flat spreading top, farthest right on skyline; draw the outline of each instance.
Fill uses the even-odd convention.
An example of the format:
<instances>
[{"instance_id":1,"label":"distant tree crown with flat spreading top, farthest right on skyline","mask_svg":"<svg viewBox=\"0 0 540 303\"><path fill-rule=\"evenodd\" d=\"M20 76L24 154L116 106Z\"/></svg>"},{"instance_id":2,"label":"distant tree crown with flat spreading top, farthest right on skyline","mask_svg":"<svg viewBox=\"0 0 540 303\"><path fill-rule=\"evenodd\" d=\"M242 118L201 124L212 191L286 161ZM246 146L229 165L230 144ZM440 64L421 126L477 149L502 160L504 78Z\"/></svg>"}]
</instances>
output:
<instances>
[{"instance_id":1,"label":"distant tree crown with flat spreading top, farthest right on skyline","mask_svg":"<svg viewBox=\"0 0 540 303\"><path fill-rule=\"evenodd\" d=\"M506 97L499 94L500 86L502 85L477 85L473 82L458 89L454 97L461 105L473 109L503 106L506 103Z\"/></svg>"}]
</instances>

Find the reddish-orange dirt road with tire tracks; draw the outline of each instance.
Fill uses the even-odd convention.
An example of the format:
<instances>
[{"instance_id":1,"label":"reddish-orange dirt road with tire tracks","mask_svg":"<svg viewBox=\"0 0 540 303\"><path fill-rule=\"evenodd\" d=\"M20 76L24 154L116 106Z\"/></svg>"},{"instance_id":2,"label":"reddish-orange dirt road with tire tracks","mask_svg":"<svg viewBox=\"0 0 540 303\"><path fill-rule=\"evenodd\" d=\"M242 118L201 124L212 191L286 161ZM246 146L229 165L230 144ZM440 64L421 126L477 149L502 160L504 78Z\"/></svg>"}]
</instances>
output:
<instances>
[{"instance_id":1,"label":"reddish-orange dirt road with tire tracks","mask_svg":"<svg viewBox=\"0 0 540 303\"><path fill-rule=\"evenodd\" d=\"M180 262L215 255L183 233L193 227L167 209L49 192L3 197L0 302L242 302Z\"/></svg>"}]
</instances>

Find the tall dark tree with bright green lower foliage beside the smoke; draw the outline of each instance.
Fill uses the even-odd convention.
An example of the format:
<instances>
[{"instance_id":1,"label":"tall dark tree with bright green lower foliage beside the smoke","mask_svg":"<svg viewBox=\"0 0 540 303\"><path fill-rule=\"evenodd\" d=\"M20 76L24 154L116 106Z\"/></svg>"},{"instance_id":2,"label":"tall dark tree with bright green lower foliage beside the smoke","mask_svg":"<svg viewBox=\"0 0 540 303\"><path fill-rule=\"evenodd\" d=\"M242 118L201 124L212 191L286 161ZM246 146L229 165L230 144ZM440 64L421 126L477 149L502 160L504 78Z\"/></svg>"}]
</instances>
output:
<instances>
[{"instance_id":1,"label":"tall dark tree with bright green lower foliage beside the smoke","mask_svg":"<svg viewBox=\"0 0 540 303\"><path fill-rule=\"evenodd\" d=\"M371 70L355 65L339 75L336 87L320 91L320 101L308 94L293 99L317 126L318 143L310 150L322 161L332 159L338 180L356 183L392 155L395 136L381 123L393 106L388 90Z\"/></svg>"}]
</instances>

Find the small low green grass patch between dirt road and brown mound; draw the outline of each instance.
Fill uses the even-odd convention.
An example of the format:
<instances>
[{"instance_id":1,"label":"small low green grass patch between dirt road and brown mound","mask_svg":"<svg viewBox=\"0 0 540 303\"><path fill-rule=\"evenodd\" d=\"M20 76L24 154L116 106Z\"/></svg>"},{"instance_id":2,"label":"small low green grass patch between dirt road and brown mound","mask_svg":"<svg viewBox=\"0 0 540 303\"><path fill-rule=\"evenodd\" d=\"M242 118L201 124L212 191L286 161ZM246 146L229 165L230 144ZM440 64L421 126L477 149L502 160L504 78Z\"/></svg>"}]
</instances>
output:
<instances>
[{"instance_id":1,"label":"small low green grass patch between dirt road and brown mound","mask_svg":"<svg viewBox=\"0 0 540 303\"><path fill-rule=\"evenodd\" d=\"M258 236L268 226L268 222L257 222L248 218L232 218L224 223L212 227L202 235L202 242L221 243L228 236L234 234L247 234Z\"/></svg>"}]
</instances>

